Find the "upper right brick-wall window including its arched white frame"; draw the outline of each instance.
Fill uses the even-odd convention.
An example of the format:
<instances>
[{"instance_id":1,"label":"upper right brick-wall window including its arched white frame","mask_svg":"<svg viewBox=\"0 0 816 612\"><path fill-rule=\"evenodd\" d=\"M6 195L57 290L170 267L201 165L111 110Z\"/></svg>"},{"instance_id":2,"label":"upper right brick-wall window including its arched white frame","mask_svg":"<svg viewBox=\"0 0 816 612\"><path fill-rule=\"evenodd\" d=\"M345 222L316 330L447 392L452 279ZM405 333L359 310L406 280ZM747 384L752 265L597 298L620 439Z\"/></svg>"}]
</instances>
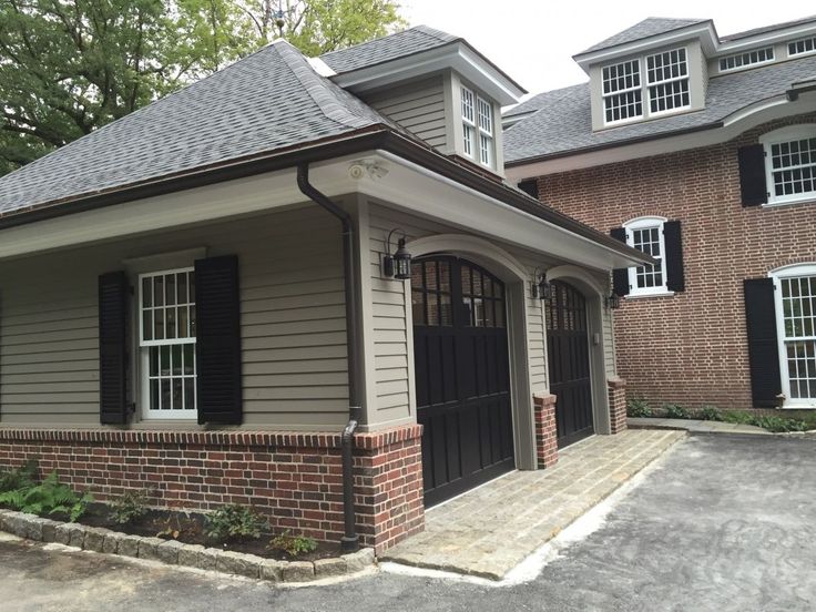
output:
<instances>
[{"instance_id":1,"label":"upper right brick-wall window including its arched white frame","mask_svg":"<svg viewBox=\"0 0 816 612\"><path fill-rule=\"evenodd\" d=\"M816 198L816 124L763 135L768 204Z\"/></svg>"}]
</instances>

